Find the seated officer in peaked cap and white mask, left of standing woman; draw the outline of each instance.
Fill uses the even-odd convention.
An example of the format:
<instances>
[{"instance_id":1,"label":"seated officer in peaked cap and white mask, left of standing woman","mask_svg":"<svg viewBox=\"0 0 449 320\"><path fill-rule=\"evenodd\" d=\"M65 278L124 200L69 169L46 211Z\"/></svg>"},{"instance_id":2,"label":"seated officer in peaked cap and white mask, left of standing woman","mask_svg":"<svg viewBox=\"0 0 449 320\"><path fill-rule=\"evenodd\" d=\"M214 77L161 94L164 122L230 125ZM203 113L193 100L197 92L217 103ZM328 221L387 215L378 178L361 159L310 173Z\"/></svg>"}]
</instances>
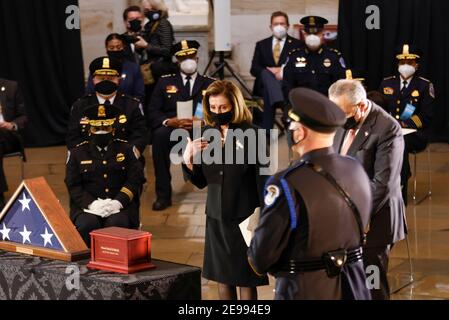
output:
<instances>
[{"instance_id":1,"label":"seated officer in peaked cap and white mask, left of standing woman","mask_svg":"<svg viewBox=\"0 0 449 320\"><path fill-rule=\"evenodd\" d=\"M156 175L156 196L153 210L162 211L171 206L170 151L177 143L170 141L175 129L191 130L194 118L202 118L203 93L214 79L198 73L197 41L183 40L173 46L172 53L178 60L181 71L163 76L148 105L148 122L153 137L153 164ZM192 101L192 116L179 119L178 102Z\"/></svg>"}]
</instances>

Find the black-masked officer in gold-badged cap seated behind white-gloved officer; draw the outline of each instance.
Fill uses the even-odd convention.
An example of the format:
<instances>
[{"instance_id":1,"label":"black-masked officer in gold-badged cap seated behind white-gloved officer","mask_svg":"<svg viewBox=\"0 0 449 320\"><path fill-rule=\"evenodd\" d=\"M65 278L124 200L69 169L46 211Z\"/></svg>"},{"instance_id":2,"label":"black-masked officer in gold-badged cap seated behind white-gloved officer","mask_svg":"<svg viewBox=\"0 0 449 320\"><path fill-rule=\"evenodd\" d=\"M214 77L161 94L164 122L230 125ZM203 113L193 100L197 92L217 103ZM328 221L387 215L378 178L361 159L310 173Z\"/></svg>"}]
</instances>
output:
<instances>
[{"instance_id":1,"label":"black-masked officer in gold-badged cap seated behind white-gloved officer","mask_svg":"<svg viewBox=\"0 0 449 320\"><path fill-rule=\"evenodd\" d=\"M117 91L122 63L114 58L100 57L92 61L89 69L96 92L82 97L72 106L66 138L68 149L86 140L89 134L88 121L82 115L86 108L100 103L106 107L114 104L120 109L116 137L129 141L143 154L148 130L142 105L138 99Z\"/></svg>"}]
</instances>

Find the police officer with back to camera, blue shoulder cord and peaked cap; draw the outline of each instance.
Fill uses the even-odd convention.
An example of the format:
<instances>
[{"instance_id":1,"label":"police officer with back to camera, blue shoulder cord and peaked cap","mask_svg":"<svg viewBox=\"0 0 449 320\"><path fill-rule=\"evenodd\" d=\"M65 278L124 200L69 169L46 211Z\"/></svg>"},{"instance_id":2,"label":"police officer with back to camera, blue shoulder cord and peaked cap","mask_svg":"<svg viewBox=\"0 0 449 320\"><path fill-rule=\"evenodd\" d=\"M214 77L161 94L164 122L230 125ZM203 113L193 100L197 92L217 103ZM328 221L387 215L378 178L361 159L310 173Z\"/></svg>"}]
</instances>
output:
<instances>
[{"instance_id":1,"label":"police officer with back to camera, blue shoulder cord and peaked cap","mask_svg":"<svg viewBox=\"0 0 449 320\"><path fill-rule=\"evenodd\" d=\"M310 89L292 90L290 102L301 159L267 182L248 260L276 277L276 299L370 299L362 261L370 182L355 159L332 148L346 116Z\"/></svg>"}]
</instances>

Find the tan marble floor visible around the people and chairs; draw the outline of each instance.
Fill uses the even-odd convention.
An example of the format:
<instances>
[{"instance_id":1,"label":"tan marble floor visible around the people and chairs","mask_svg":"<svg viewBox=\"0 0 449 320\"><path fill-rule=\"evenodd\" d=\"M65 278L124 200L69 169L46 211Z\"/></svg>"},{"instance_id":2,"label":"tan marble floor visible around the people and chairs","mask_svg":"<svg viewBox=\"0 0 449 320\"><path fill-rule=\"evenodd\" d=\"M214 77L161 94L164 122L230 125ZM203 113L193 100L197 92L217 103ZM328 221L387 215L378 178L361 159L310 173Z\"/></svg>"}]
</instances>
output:
<instances>
[{"instance_id":1,"label":"tan marble floor visible around the people and chairs","mask_svg":"<svg viewBox=\"0 0 449 320\"><path fill-rule=\"evenodd\" d=\"M288 162L286 143L281 140L280 168ZM146 157L150 158L150 150ZM52 147L27 149L26 178L44 176L63 207L68 212L68 194L64 185L66 149ZM393 299L449 299L449 145L432 144L431 178L432 197L419 205L409 205L407 242L397 244L391 254L390 282ZM418 155L418 193L427 191L427 155ZM18 158L5 159L5 172L10 186L7 196L20 181ZM153 234L153 258L194 266L202 266L205 234L205 191L199 191L183 181L179 167L172 167L173 206L163 212L153 212L154 173L151 161L147 161L146 175L149 179L142 198L143 228ZM410 180L412 181L412 180ZM410 183L410 193L412 185ZM411 196L411 195L410 195ZM411 254L413 283L410 282ZM272 299L273 279L270 286L259 288L259 298ZM211 281L202 281L203 299L217 299L217 286Z\"/></svg>"}]
</instances>

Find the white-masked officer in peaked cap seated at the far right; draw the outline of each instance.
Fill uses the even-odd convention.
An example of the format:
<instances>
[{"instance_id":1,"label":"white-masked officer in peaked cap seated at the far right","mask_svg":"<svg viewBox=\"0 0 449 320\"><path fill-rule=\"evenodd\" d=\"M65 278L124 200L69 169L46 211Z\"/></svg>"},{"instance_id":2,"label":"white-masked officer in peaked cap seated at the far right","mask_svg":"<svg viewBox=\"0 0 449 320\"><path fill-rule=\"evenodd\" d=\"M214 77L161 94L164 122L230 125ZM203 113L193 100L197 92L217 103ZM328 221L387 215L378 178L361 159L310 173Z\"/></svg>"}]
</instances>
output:
<instances>
[{"instance_id":1,"label":"white-masked officer in peaked cap seated at the far right","mask_svg":"<svg viewBox=\"0 0 449 320\"><path fill-rule=\"evenodd\" d=\"M415 47L402 45L396 59L399 73L385 78L380 91L387 99L386 111L399 121L402 128L417 130L404 135L401 184L402 197L407 204L407 182L411 175L408 154L423 151L429 142L435 91L432 82L416 75L420 55Z\"/></svg>"}]
</instances>

